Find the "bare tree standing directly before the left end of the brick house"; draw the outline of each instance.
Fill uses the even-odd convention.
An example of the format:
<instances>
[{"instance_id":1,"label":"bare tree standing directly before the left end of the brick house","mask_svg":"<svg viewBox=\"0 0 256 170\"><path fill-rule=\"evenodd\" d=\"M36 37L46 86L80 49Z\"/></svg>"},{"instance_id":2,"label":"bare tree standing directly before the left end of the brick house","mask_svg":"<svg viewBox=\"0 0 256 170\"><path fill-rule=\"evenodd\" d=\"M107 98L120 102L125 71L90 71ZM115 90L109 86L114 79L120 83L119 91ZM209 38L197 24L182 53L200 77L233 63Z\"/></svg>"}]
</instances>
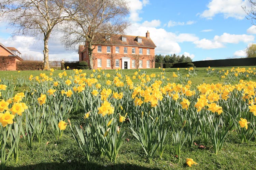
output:
<instances>
[{"instance_id":1,"label":"bare tree standing directly before the left end of the brick house","mask_svg":"<svg viewBox=\"0 0 256 170\"><path fill-rule=\"evenodd\" d=\"M93 69L93 50L96 45L108 41L117 34L122 34L128 26L125 17L129 7L125 0L71 0L75 11L63 29L65 47L74 49L85 43L88 49L90 68Z\"/></svg>"}]
</instances>

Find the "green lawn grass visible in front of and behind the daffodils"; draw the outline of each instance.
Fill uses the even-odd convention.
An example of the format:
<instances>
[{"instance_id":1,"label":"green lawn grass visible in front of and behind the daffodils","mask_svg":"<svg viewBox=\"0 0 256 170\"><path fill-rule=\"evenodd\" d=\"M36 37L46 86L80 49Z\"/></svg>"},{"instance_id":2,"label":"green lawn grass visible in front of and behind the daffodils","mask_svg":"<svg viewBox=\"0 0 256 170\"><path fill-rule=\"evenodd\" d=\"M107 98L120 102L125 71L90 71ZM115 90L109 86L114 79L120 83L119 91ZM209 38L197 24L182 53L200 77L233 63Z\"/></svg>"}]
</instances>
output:
<instances>
[{"instance_id":1,"label":"green lawn grass visible in front of and behind the daffodils","mask_svg":"<svg viewBox=\"0 0 256 170\"><path fill-rule=\"evenodd\" d=\"M232 67L219 67L215 70L230 70ZM249 68L249 67L245 67ZM253 68L253 67L251 67ZM205 83L224 83L222 79L214 75L208 77L207 68L195 68L197 71L197 77L189 78L192 81L192 88L196 88L197 85ZM137 70L122 70L123 75L132 77L133 73ZM147 74L155 73L161 76L160 69L143 69ZM53 77L58 76L58 73L63 70L55 70ZM68 76L71 75L73 70L66 70ZM83 70L87 74L91 74L91 70ZM114 74L115 70L104 70L105 73ZM170 79L170 82L176 79L172 77L173 72L177 73L176 68L165 69L166 77ZM180 68L179 72L186 76L188 70ZM8 79L17 84L15 93L27 90L27 87L23 84L22 79L28 79L30 74L34 77L39 76L40 73L46 73L49 75L50 71L0 71L0 79ZM247 80L255 81L254 78ZM234 82L238 83L238 82ZM1 83L0 83L1 84ZM71 113L70 120L81 121L84 115L84 109ZM248 144L240 143L237 132L229 132L226 141L224 142L223 149L216 155L213 151L210 140L205 145L205 149L199 149L198 146L188 146L185 142L182 148L182 158L178 160L174 155L174 148L168 143L171 143L171 135L167 133L166 142L167 146L163 153L162 159L155 155L151 163L145 157L144 151L132 135L129 129L129 123L125 122L123 130L126 131L127 140L125 140L122 148L119 151L117 157L117 163L111 163L105 155L102 157L98 155L97 150L93 150L91 153L90 161L86 160L86 157L81 153L77 143L72 137L70 128L67 127L62 138L57 140L53 137L51 126L48 126L48 130L45 134L43 141L39 144L37 141L33 142L32 149L28 149L24 138L20 138L19 142L19 159L18 163L15 160L10 159L7 163L8 169L184 169L188 168L186 158L193 158L198 165L193 165L192 169L256 169L256 141L253 138ZM194 140L197 145L200 145L201 139L197 136Z\"/></svg>"}]
</instances>

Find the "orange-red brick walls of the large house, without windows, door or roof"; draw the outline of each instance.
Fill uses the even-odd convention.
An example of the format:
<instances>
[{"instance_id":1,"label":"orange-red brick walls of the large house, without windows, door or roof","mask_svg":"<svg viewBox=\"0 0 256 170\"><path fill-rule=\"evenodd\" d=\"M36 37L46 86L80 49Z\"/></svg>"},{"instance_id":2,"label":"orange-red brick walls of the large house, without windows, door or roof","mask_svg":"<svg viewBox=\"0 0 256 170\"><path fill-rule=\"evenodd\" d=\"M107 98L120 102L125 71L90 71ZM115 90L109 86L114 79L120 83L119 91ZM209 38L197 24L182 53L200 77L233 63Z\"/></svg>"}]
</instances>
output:
<instances>
[{"instance_id":1,"label":"orange-red brick walls of the large house, without windows, door or roof","mask_svg":"<svg viewBox=\"0 0 256 170\"><path fill-rule=\"evenodd\" d=\"M130 59L130 69L136 69L132 67L132 60L142 60L142 67L139 68L148 68L147 67L147 60L150 60L150 67L149 68L154 68L155 67L155 62L152 62L152 59L155 56L155 49L154 48L146 48L146 47L135 47L135 54L132 54L132 48L133 47L127 47L127 54L124 54L124 47L127 46L119 46L119 53L116 53L115 48L116 46L111 46L111 53L107 53L107 46L101 46L101 52L98 52L98 46L93 50L93 58L94 58L94 68L97 69L98 67L98 58L101 59L101 68L102 69L116 69L116 68L121 68L122 69L122 57L129 57ZM139 48L142 48L142 53L139 54ZM150 54L147 55L147 49L150 49ZM84 55L83 61L88 62L89 64L89 56L87 54L87 51L85 50L84 53L79 54L79 59L81 59L81 55ZM112 67L106 67L107 65L107 59L111 59L111 65ZM115 60L119 59L119 67L115 67ZM152 67L153 66L153 67Z\"/></svg>"}]
</instances>

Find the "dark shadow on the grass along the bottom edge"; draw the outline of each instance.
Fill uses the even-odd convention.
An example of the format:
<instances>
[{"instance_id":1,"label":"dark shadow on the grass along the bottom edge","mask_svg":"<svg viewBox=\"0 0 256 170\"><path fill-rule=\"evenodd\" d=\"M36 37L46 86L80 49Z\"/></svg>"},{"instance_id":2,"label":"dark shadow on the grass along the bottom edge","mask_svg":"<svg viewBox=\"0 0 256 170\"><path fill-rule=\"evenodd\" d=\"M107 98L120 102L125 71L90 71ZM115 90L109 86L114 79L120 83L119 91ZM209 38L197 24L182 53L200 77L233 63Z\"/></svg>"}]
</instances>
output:
<instances>
[{"instance_id":1,"label":"dark shadow on the grass along the bottom edge","mask_svg":"<svg viewBox=\"0 0 256 170\"><path fill-rule=\"evenodd\" d=\"M95 163L81 163L81 162L71 162L71 163L40 163L35 165L27 165L27 166L20 166L20 167L6 167L6 169L10 170L42 170L42 169L49 169L49 170L57 170L57 169L142 169L142 170L153 170L152 168L145 168L138 165L132 164L113 164L108 166L102 166Z\"/></svg>"}]
</instances>

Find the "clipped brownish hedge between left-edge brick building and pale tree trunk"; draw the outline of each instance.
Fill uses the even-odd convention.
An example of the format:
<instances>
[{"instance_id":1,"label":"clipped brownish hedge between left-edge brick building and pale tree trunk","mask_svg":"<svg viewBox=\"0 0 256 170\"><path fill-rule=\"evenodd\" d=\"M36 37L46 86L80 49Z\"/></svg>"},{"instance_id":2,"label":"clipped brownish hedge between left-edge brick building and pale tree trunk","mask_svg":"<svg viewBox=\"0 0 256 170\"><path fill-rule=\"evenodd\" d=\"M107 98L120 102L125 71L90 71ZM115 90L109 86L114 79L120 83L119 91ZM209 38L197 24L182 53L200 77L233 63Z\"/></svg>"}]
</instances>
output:
<instances>
[{"instance_id":1,"label":"clipped brownish hedge between left-edge brick building and pale tree trunk","mask_svg":"<svg viewBox=\"0 0 256 170\"><path fill-rule=\"evenodd\" d=\"M41 61L19 61L16 62L16 70L42 70L43 64Z\"/></svg>"}]
</instances>

